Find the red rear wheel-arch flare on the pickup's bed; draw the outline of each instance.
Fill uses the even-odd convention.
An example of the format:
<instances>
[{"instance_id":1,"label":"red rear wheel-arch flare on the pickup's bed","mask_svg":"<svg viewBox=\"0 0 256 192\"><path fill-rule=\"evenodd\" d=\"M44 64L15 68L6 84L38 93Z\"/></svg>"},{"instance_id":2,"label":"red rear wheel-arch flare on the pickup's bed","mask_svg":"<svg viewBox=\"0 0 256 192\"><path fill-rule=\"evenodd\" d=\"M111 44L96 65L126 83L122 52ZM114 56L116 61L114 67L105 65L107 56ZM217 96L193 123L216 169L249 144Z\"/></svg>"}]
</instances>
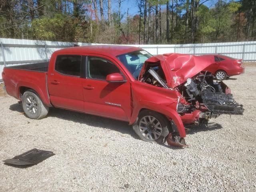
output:
<instances>
[{"instance_id":1,"label":"red rear wheel-arch flare on the pickup's bed","mask_svg":"<svg viewBox=\"0 0 256 192\"><path fill-rule=\"evenodd\" d=\"M18 98L19 100L21 100L21 98L20 98L20 88L21 87L28 87L30 89L33 89L38 94L38 96L42 99L42 102L46 106L48 106L48 107L51 106L50 99L47 95L46 87L45 87L45 90L42 90L38 85L36 85L34 83L19 81L18 84L16 85L16 98Z\"/></svg>"}]
</instances>

